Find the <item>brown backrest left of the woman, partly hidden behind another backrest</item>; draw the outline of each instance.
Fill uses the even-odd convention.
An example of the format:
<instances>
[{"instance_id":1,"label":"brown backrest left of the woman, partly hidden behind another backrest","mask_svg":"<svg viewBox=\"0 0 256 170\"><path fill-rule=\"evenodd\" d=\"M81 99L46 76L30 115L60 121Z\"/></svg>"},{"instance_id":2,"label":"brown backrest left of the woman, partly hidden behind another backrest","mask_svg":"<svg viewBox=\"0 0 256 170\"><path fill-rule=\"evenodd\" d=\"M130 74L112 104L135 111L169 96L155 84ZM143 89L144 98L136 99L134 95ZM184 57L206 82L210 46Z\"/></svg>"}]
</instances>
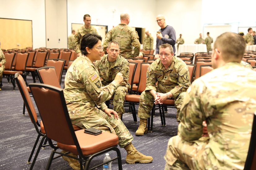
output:
<instances>
[{"instance_id":1,"label":"brown backrest left of the woman, partly hidden behind another backrest","mask_svg":"<svg viewBox=\"0 0 256 170\"><path fill-rule=\"evenodd\" d=\"M65 66L65 62L66 62L66 60L63 60L63 59L48 59L46 62L46 66L54 66L55 67L55 71L56 71L56 74L57 74L60 84L61 84L61 78L62 78L62 73L63 73L63 69Z\"/></svg>"}]
</instances>

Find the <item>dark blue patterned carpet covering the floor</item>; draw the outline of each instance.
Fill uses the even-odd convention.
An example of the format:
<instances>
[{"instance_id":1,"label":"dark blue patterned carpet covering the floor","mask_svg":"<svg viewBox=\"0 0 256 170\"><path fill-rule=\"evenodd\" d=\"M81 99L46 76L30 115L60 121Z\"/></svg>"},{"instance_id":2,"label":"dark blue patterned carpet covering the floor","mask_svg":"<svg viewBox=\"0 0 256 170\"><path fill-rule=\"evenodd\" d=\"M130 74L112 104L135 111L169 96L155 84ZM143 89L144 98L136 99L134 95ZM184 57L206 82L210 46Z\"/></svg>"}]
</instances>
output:
<instances>
[{"instance_id":1,"label":"dark blue patterned carpet covering the floor","mask_svg":"<svg viewBox=\"0 0 256 170\"><path fill-rule=\"evenodd\" d=\"M63 75L63 79L64 76L65 75ZM32 77L30 75L27 77L27 81L28 83L32 83ZM37 83L39 83L38 80ZM29 169L30 164L27 164L27 160L36 140L37 133L34 129L34 125L30 121L27 111L25 112L25 116L22 116L23 100L20 96L19 89L16 87L13 91L12 84L7 83L6 78L3 78L2 84L2 91L0 91L0 169ZM63 82L61 84L61 87L62 86ZM110 105L110 108L113 108L113 106ZM126 151L124 148L119 147L122 156L123 169L164 169L164 154L168 140L170 137L177 134L178 123L176 122L176 109L168 108L168 113L165 113L167 126L161 126L159 111L156 110L153 132L144 136L135 136L135 131L138 128L139 122L134 123L132 115L128 114L128 107L125 109L126 113L123 115L123 122L134 137L133 145L144 155L152 156L154 160L150 164L126 164ZM139 120L138 117L137 119ZM45 169L51 150L50 147L40 150L34 169ZM115 153L110 152L110 157L114 156ZM33 158L34 155L31 162L33 161ZM104 155L98 156L92 161L91 165L96 164L97 162L102 162L103 158ZM69 164L64 159L58 158L53 160L51 169L71 170L72 168L70 168ZM98 170L99 169L102 168L98 168ZM118 169L117 161L114 161L112 163L112 170L116 169Z\"/></svg>"}]
</instances>

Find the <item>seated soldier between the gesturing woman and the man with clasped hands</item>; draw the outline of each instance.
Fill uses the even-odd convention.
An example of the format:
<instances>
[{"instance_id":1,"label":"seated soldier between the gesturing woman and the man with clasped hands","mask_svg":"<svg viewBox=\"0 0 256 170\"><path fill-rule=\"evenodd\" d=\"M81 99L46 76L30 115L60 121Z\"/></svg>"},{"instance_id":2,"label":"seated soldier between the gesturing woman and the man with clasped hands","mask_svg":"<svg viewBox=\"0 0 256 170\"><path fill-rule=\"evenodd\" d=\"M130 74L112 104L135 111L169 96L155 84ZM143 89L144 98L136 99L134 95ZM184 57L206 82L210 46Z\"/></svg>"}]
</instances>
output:
<instances>
[{"instance_id":1,"label":"seated soldier between the gesturing woman and the man with clasped hands","mask_svg":"<svg viewBox=\"0 0 256 170\"><path fill-rule=\"evenodd\" d=\"M109 85L114 79L117 73L122 73L124 80L117 87L113 96L113 105L120 118L124 114L124 97L131 85L128 82L129 78L129 62L124 57L119 55L120 46L116 41L110 41L107 48L107 53L101 57L100 60L95 62L95 66L101 77L101 83L103 86Z\"/></svg>"}]
</instances>

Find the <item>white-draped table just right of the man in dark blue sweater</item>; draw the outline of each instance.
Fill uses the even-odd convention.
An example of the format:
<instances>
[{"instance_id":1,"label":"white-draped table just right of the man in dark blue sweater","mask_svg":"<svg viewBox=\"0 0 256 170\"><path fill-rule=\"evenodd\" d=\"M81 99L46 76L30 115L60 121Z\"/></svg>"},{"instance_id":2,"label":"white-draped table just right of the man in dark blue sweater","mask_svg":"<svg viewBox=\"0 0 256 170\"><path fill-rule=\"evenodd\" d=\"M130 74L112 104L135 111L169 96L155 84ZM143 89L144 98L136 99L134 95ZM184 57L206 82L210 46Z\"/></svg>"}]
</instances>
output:
<instances>
[{"instance_id":1,"label":"white-draped table just right of the man in dark blue sweater","mask_svg":"<svg viewBox=\"0 0 256 170\"><path fill-rule=\"evenodd\" d=\"M207 52L206 44L182 44L179 45L179 50L177 56L180 53L197 53L197 52Z\"/></svg>"}]
</instances>

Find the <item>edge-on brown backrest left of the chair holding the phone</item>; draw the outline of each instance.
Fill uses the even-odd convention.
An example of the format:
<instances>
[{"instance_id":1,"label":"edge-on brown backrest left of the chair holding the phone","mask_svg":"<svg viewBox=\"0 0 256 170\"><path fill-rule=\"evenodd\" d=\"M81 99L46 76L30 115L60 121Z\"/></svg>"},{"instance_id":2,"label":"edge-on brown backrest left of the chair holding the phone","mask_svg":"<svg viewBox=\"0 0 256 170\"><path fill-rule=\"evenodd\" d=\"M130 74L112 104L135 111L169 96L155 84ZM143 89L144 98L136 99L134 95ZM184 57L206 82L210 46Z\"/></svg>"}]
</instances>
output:
<instances>
[{"instance_id":1,"label":"edge-on brown backrest left of the chair holding the phone","mask_svg":"<svg viewBox=\"0 0 256 170\"><path fill-rule=\"evenodd\" d=\"M15 79L15 81L17 83L17 86L18 86L18 88L20 90L20 94L22 96L24 104L25 104L25 106L27 108L27 111L29 113L30 120L34 124L35 128L38 130L39 123L38 123L38 119L37 119L37 113L36 113L34 104L33 104L32 100L31 100L31 97L29 95L29 91L27 89L27 85L26 85L26 83L24 81L24 78L22 77L22 75L20 73L16 73L14 75L14 79Z\"/></svg>"}]
</instances>

